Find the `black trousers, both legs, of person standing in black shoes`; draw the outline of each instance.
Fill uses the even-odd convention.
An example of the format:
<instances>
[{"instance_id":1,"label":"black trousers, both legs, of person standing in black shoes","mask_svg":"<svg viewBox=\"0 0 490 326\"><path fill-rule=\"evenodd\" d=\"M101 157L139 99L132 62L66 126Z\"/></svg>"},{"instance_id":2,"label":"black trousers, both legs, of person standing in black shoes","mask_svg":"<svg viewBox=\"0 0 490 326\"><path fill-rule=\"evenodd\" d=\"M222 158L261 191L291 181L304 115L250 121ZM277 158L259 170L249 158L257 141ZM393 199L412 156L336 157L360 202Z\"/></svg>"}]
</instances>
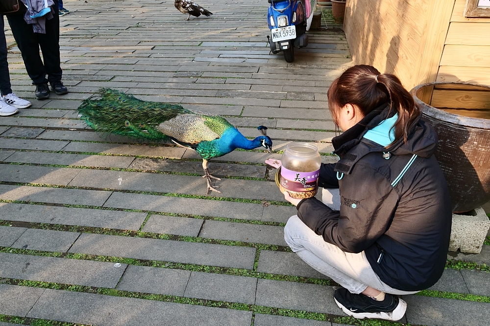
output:
<instances>
[{"instance_id":1,"label":"black trousers, both legs, of person standing in black shoes","mask_svg":"<svg viewBox=\"0 0 490 326\"><path fill-rule=\"evenodd\" d=\"M53 8L53 18L46 20L46 34L34 33L23 15L7 15L12 34L22 53L25 69L35 85L61 80L58 0L54 0ZM44 64L39 55L39 47L43 52Z\"/></svg>"}]
</instances>

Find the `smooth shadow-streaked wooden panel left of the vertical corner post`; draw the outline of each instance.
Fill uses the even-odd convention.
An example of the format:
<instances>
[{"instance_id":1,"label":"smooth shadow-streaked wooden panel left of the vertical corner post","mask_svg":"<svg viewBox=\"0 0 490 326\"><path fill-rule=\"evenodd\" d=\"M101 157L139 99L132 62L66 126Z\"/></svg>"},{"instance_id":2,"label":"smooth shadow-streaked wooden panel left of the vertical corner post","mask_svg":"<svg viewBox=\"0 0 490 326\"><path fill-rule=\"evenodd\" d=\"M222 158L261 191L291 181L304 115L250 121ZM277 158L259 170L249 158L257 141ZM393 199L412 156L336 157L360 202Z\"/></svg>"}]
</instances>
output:
<instances>
[{"instance_id":1,"label":"smooth shadow-streaked wooden panel left of the vertical corner post","mask_svg":"<svg viewBox=\"0 0 490 326\"><path fill-rule=\"evenodd\" d=\"M394 73L411 89L430 2L347 0L344 29L354 63Z\"/></svg>"}]
</instances>

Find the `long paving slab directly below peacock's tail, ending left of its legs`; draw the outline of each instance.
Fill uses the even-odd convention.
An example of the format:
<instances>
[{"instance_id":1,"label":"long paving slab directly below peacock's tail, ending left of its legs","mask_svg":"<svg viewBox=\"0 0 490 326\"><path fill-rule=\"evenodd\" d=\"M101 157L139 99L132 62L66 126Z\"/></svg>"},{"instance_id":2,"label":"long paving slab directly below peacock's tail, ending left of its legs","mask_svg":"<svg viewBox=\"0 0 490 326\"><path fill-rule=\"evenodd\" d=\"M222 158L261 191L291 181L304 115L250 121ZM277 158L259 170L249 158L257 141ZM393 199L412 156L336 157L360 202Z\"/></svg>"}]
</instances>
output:
<instances>
[{"instance_id":1,"label":"long paving slab directly below peacock's tail, ending left of its legs","mask_svg":"<svg viewBox=\"0 0 490 326\"><path fill-rule=\"evenodd\" d=\"M156 156L169 159L180 159L185 148L168 146L148 146L148 145L122 145L92 142L71 142L63 151L67 152L86 152L86 153L107 153L123 155Z\"/></svg>"}]
</instances>

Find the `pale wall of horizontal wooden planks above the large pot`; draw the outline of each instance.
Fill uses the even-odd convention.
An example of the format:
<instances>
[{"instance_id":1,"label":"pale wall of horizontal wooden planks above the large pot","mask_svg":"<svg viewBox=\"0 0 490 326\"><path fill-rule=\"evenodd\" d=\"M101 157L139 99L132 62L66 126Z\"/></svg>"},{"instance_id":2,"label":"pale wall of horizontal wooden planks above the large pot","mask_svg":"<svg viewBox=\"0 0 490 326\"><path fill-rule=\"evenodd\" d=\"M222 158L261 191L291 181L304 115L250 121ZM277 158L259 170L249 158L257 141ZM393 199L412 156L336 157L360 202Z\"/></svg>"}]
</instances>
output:
<instances>
[{"instance_id":1,"label":"pale wall of horizontal wooden planks above the large pot","mask_svg":"<svg viewBox=\"0 0 490 326\"><path fill-rule=\"evenodd\" d=\"M490 18L464 18L465 4L454 3L437 80L490 85Z\"/></svg>"}]
</instances>

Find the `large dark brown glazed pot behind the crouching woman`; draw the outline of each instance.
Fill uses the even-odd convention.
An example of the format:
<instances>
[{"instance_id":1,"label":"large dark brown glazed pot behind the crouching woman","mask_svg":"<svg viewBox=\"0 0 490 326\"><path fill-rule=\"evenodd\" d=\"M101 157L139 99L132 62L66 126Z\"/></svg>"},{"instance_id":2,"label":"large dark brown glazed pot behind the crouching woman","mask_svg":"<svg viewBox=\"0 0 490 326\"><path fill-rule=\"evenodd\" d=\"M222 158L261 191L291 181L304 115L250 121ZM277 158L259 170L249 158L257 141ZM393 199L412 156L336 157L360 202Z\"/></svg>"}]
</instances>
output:
<instances>
[{"instance_id":1,"label":"large dark brown glazed pot behind the crouching woman","mask_svg":"<svg viewBox=\"0 0 490 326\"><path fill-rule=\"evenodd\" d=\"M436 130L439 143L435 153L449 186L453 212L466 212L490 201L490 119L475 118L456 114L424 103L417 97L424 88L475 87L478 91L489 92L486 85L467 83L433 82L416 86L410 93L423 108L423 119ZM455 90L447 90L457 92ZM465 102L465 95L461 101ZM467 97L467 96L466 96ZM468 100L468 98L466 98ZM433 103L432 100L431 103ZM483 104L486 107L486 104ZM465 109L462 107L462 109Z\"/></svg>"}]
</instances>

